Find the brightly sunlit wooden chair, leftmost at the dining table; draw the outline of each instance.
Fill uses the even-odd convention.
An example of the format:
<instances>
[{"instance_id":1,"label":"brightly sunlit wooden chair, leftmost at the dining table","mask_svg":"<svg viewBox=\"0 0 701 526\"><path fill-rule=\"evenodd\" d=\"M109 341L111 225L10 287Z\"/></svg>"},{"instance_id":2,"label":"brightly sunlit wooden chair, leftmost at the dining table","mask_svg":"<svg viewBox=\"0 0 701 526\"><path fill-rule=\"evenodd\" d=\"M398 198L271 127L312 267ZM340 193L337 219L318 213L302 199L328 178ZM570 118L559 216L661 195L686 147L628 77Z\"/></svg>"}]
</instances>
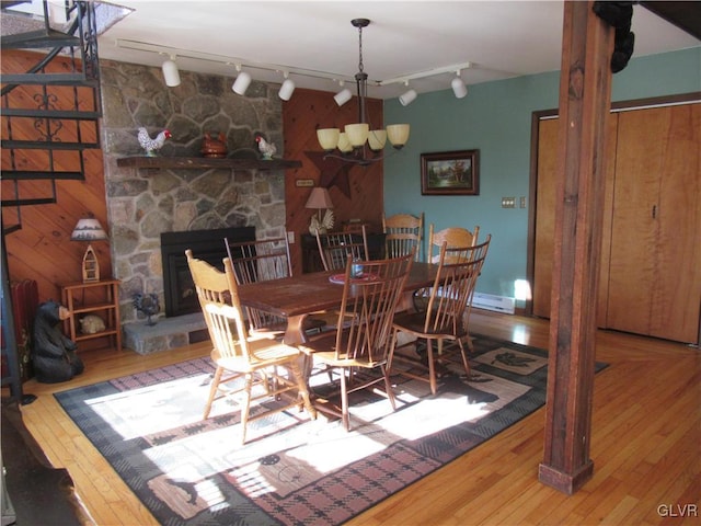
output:
<instances>
[{"instance_id":1,"label":"brightly sunlit wooden chair, leftmost at the dining table","mask_svg":"<svg viewBox=\"0 0 701 526\"><path fill-rule=\"evenodd\" d=\"M225 272L221 272L193 258L189 249L185 255L214 345L211 359L217 366L203 418L209 416L215 400L225 397L233 400L241 408L242 444L248 423L271 413L299 409L303 404L315 418L299 350L277 340L249 336L231 260L223 260ZM281 374L283 370L287 374ZM258 400L275 403L257 404L261 411L251 415L251 403Z\"/></svg>"}]
</instances>

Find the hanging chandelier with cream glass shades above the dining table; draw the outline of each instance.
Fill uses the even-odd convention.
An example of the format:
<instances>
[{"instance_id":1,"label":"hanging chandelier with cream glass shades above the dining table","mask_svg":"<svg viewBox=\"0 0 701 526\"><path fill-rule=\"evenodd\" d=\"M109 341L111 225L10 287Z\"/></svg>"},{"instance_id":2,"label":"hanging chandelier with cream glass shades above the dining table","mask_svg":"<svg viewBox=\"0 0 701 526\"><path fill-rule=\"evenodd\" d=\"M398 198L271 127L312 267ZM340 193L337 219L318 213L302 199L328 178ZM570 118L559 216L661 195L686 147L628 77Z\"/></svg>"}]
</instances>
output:
<instances>
[{"instance_id":1,"label":"hanging chandelier with cream glass shades above the dining table","mask_svg":"<svg viewBox=\"0 0 701 526\"><path fill-rule=\"evenodd\" d=\"M384 148L387 139L392 147L401 149L409 140L409 124L391 124L386 129L370 129L366 121L366 98L368 93L368 75L363 68L363 27L370 24L368 19L354 19L350 21L358 28L358 72L355 73L355 83L358 96L358 122L346 124L343 132L338 128L322 128L317 130L319 144L326 152L326 157L338 157L349 162L367 164L382 159L366 157L366 146L372 152L380 152ZM345 101L344 101L345 102ZM332 156L335 149L343 156Z\"/></svg>"}]
</instances>

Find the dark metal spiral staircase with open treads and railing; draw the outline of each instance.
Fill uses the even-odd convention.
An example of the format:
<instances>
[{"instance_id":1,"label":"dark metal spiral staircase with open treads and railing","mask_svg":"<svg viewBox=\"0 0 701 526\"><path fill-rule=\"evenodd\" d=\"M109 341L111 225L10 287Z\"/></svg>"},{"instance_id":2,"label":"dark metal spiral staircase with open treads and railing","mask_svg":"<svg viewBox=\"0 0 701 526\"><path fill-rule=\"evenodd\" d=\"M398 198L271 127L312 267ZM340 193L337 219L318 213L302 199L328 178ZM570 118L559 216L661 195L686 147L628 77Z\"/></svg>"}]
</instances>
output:
<instances>
[{"instance_id":1,"label":"dark metal spiral staircase with open treads and railing","mask_svg":"<svg viewBox=\"0 0 701 526\"><path fill-rule=\"evenodd\" d=\"M5 1L0 4L3 33L4 19L16 15L9 8L20 3ZM0 39L2 50L47 50L28 71L3 73L0 90L0 206L3 209L0 304L4 335L2 354L9 373L2 377L2 385L10 386L12 397L20 403L30 403L35 397L23 393L19 375L4 238L22 228L23 206L57 202L56 181L85 179L83 152L100 148L102 116L94 2L66 2L65 20L68 22L64 31L51 26L47 0L43 0L43 27L3 34ZM10 27L12 21L7 25ZM59 57L66 71L51 67ZM46 191L46 184L41 182L48 183L48 195L37 195L39 190ZM16 214L15 222L10 225L5 224L8 207L14 207Z\"/></svg>"}]
</instances>

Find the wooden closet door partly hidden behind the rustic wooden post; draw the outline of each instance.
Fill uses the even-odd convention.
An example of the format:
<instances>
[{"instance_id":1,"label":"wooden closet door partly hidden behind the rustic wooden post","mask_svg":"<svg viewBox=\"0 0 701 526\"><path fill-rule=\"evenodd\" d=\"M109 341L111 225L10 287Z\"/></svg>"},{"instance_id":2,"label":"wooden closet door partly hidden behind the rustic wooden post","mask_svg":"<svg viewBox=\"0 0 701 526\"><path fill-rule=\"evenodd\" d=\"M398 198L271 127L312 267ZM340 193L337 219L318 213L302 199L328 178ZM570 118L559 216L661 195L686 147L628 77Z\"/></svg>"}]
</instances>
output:
<instances>
[{"instance_id":1,"label":"wooden closet door partly hidden behind the rustic wooden post","mask_svg":"<svg viewBox=\"0 0 701 526\"><path fill-rule=\"evenodd\" d=\"M601 270L597 302L597 324L604 327L608 298L608 267L610 256L611 209L616 168L618 115L611 114L607 134L609 155L604 192L604 225L601 228ZM533 315L550 318L552 288L553 237L555 230L555 179L558 175L558 118L538 125L538 183L536 188L536 236L533 247Z\"/></svg>"}]
</instances>

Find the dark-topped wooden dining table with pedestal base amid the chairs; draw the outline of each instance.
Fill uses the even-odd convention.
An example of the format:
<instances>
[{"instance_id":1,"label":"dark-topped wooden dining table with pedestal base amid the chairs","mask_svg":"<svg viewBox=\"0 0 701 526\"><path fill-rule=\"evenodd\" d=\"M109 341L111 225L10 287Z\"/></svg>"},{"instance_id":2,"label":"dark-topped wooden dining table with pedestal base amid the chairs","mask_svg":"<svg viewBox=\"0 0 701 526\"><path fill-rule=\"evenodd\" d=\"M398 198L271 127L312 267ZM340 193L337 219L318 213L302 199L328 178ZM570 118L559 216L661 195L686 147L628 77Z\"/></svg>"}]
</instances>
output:
<instances>
[{"instance_id":1,"label":"dark-topped wooden dining table with pedestal base amid the chairs","mask_svg":"<svg viewBox=\"0 0 701 526\"><path fill-rule=\"evenodd\" d=\"M404 295L398 311L412 308L414 290L430 287L436 278L438 265L414 262L404 284ZM287 319L284 342L290 345L303 343L304 319L323 310L341 307L343 284L332 283L330 277L338 271L311 272L280 279L239 285L239 300L251 307ZM353 290L350 291L353 294Z\"/></svg>"}]
</instances>

